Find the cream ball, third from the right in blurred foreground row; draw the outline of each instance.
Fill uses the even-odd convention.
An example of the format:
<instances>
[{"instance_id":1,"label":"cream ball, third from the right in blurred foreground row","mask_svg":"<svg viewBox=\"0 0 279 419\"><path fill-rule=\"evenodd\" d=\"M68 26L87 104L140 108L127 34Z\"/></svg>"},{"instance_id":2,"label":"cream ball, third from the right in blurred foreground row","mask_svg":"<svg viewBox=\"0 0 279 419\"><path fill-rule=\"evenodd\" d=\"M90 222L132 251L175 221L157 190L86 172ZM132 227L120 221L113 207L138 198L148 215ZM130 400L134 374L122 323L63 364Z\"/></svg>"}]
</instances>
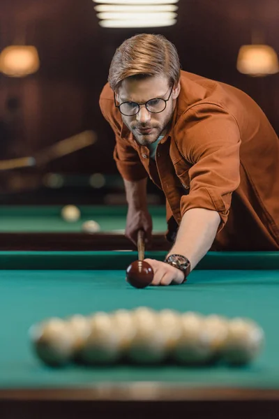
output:
<instances>
[{"instance_id":1,"label":"cream ball, third from the right in blurred foreground row","mask_svg":"<svg viewBox=\"0 0 279 419\"><path fill-rule=\"evenodd\" d=\"M212 352L204 328L204 318L192 312L181 315L182 332L174 347L173 357L179 363L203 365Z\"/></svg>"}]
</instances>

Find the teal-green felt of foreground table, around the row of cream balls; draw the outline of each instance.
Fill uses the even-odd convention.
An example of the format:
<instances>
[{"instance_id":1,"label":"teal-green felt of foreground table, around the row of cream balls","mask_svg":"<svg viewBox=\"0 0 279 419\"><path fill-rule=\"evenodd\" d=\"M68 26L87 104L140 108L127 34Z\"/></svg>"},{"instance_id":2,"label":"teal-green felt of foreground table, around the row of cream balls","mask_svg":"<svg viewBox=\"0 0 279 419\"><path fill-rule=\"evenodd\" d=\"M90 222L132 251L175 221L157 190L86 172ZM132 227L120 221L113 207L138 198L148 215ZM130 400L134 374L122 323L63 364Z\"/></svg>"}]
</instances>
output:
<instances>
[{"instance_id":1,"label":"teal-green felt of foreground table, around the row of cream balls","mask_svg":"<svg viewBox=\"0 0 279 419\"><path fill-rule=\"evenodd\" d=\"M278 270L195 270L182 286L144 290L126 284L122 270L1 270L0 275L0 388L121 381L279 388ZM252 365L241 368L51 369L33 356L28 330L43 318L139 306L249 317L264 328L266 348Z\"/></svg>"}]
</instances>

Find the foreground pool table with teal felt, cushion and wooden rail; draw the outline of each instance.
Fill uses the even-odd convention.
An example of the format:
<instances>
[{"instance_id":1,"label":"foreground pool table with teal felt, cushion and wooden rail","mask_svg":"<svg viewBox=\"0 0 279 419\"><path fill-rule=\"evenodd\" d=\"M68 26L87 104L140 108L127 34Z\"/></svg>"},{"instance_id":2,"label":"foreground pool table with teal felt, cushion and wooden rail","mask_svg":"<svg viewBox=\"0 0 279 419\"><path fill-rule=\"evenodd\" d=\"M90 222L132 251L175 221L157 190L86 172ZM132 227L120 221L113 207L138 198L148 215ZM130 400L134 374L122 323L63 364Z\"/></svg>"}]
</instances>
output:
<instances>
[{"instance_id":1,"label":"foreground pool table with teal felt, cushion and wooden rail","mask_svg":"<svg viewBox=\"0 0 279 419\"><path fill-rule=\"evenodd\" d=\"M279 252L209 252L186 284L142 290L125 281L136 258L134 251L0 252L0 417L278 418ZM245 367L54 369L31 351L29 327L43 318L139 306L252 318L266 345Z\"/></svg>"}]
</instances>

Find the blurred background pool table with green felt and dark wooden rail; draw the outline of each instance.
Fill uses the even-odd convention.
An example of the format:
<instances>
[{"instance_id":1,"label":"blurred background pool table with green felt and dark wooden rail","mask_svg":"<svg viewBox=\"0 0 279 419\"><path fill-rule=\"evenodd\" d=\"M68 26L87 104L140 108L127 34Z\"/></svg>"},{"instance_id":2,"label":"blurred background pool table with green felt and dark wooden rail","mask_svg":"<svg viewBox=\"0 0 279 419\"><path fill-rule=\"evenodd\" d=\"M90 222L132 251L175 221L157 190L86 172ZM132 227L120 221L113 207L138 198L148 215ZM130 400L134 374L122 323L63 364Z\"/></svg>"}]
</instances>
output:
<instances>
[{"instance_id":1,"label":"blurred background pool table with green felt and dark wooden rail","mask_svg":"<svg viewBox=\"0 0 279 419\"><path fill-rule=\"evenodd\" d=\"M61 217L63 205L16 205L0 207L0 250L136 250L124 236L126 206L80 205L80 220ZM165 207L150 206L153 219L153 250L168 250L165 239ZM95 220L100 232L82 232L82 223Z\"/></svg>"}]
</instances>

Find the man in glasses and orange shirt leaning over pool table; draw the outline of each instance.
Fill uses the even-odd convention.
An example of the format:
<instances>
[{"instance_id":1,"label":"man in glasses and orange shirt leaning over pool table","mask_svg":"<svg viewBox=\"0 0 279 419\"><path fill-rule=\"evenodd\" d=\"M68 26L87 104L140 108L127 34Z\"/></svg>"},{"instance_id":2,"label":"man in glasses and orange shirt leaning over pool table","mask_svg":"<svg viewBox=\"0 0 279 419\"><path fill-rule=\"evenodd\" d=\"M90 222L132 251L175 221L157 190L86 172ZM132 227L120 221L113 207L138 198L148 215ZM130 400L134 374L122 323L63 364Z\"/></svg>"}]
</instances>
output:
<instances>
[{"instance_id":1,"label":"man in glasses and orange shirt leaning over pool table","mask_svg":"<svg viewBox=\"0 0 279 419\"><path fill-rule=\"evenodd\" d=\"M153 285L181 284L213 250L279 250L279 141L243 91L181 71L164 36L116 50L100 108L116 135L128 201L126 235L151 238L146 178L167 201L166 262L146 259ZM177 231L176 231L177 230Z\"/></svg>"}]
</instances>

